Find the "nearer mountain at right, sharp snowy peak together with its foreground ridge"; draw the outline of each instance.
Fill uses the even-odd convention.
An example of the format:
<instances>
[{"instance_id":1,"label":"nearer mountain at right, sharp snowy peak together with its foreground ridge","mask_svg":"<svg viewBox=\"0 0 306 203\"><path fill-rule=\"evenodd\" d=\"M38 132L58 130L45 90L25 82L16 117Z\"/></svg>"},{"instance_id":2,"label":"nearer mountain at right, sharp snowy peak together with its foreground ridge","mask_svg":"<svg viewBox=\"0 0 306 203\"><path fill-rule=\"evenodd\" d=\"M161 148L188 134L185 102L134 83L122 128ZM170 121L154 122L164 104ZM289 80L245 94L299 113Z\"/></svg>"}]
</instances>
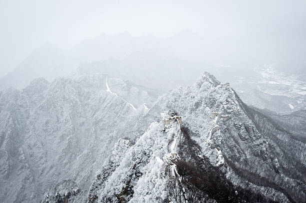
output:
<instances>
[{"instance_id":1,"label":"nearer mountain at right, sharp snowy peak together with its foreground ridge","mask_svg":"<svg viewBox=\"0 0 306 203\"><path fill-rule=\"evenodd\" d=\"M182 126L164 131L154 122L125 155L114 149L89 202L305 200L305 143L246 106L228 83L205 73L159 97L145 117L167 110L182 116Z\"/></svg>"}]
</instances>

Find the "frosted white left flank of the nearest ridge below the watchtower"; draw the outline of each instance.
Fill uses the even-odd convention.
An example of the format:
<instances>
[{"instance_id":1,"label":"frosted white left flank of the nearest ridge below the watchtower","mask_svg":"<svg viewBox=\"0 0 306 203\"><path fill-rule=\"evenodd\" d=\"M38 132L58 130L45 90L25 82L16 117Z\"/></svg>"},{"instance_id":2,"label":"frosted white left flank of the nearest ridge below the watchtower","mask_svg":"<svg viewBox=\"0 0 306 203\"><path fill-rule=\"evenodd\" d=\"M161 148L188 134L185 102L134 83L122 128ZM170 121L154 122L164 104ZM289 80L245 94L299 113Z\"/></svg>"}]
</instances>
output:
<instances>
[{"instance_id":1,"label":"frosted white left flank of the nearest ridge below the watchtower","mask_svg":"<svg viewBox=\"0 0 306 203\"><path fill-rule=\"evenodd\" d=\"M151 203L165 200L165 162L162 159L168 153L167 144L173 139L173 131L168 129L169 133L164 133L163 128L161 122L154 122L123 156L113 153L102 168L107 168L112 160L117 161L116 167L108 171L111 173L98 186L95 201L91 201L89 192L89 202Z\"/></svg>"}]
</instances>

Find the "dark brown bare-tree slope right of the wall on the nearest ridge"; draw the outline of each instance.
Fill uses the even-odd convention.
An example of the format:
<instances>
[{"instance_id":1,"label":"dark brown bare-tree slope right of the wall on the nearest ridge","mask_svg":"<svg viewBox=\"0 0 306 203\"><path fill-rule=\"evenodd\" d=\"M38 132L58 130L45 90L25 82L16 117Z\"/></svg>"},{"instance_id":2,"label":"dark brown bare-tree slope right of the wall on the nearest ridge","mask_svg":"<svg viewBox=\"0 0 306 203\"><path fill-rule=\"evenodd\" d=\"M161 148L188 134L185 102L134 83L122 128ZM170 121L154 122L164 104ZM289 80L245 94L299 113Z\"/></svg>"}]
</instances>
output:
<instances>
[{"instance_id":1,"label":"dark brown bare-tree slope right of the wall on the nearest ridge","mask_svg":"<svg viewBox=\"0 0 306 203\"><path fill-rule=\"evenodd\" d=\"M201 154L200 146L191 139L191 135L188 128L181 128L177 150L180 160L175 163L188 203L272 202L250 190L234 187L219 167L212 166L209 159ZM168 181L168 202L184 203L177 179L172 177Z\"/></svg>"}]
</instances>

